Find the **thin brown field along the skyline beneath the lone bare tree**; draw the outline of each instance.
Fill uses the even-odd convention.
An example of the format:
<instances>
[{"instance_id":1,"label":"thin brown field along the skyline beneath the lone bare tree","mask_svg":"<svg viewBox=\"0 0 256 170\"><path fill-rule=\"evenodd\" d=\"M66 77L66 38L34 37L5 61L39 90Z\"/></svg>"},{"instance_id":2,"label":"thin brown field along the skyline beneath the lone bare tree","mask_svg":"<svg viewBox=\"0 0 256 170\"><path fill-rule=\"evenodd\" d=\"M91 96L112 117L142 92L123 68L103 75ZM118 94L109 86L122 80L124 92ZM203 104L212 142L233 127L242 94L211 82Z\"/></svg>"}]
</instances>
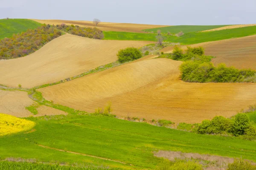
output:
<instances>
[{"instance_id":1,"label":"thin brown field along the skyline beneath the lone bare tree","mask_svg":"<svg viewBox=\"0 0 256 170\"><path fill-rule=\"evenodd\" d=\"M70 21L70 20L36 20L31 19L38 23L42 24L54 24L58 25L61 23L65 23L67 25L77 25L81 27L95 27L95 24L92 21ZM122 32L138 32L138 33L145 33L145 31L142 31L143 29L150 29L150 28L160 28L160 27L166 27L162 25L148 25L148 24L131 24L131 23L99 23L97 28L99 28L102 31L122 31Z\"/></svg>"}]
</instances>

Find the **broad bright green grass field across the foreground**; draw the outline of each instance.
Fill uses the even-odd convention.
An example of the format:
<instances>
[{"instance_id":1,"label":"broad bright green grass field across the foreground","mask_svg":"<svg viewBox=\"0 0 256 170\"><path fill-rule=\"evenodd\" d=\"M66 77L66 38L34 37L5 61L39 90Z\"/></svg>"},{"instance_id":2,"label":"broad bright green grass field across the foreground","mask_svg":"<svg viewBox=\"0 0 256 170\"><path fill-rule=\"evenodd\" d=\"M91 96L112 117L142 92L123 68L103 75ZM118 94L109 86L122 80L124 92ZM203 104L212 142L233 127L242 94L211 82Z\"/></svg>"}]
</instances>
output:
<instances>
[{"instance_id":1,"label":"broad bright green grass field across the foreground","mask_svg":"<svg viewBox=\"0 0 256 170\"><path fill-rule=\"evenodd\" d=\"M199 135L110 116L55 116L60 119L27 118L36 122L33 133L0 138L0 157L34 158L39 161L93 163L114 167L155 168L154 150L174 150L242 157L256 161L256 142L234 137ZM37 146L119 160L126 165Z\"/></svg>"}]
</instances>

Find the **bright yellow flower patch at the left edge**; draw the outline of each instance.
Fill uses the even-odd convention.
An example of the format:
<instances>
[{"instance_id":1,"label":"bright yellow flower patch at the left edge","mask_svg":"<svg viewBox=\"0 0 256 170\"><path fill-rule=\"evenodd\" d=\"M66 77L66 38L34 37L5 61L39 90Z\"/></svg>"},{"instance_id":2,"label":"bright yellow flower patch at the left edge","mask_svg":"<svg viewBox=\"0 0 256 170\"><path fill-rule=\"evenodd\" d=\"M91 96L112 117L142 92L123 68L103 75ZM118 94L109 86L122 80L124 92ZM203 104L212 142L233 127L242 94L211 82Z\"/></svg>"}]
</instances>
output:
<instances>
[{"instance_id":1,"label":"bright yellow flower patch at the left edge","mask_svg":"<svg viewBox=\"0 0 256 170\"><path fill-rule=\"evenodd\" d=\"M0 113L0 136L32 129L35 122Z\"/></svg>"}]
</instances>

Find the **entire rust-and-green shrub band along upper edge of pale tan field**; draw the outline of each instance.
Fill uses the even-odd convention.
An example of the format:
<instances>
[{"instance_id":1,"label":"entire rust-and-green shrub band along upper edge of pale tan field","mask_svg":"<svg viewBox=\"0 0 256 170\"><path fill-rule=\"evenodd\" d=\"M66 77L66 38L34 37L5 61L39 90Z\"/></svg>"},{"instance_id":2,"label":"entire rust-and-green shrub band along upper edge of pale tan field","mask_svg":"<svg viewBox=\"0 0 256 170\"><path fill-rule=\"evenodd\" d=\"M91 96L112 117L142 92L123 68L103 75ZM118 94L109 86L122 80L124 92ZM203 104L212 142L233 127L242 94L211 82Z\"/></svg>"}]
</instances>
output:
<instances>
[{"instance_id":1,"label":"entire rust-and-green shrub band along upper edge of pale tan field","mask_svg":"<svg viewBox=\"0 0 256 170\"><path fill-rule=\"evenodd\" d=\"M0 59L13 59L31 54L61 36L62 31L81 37L104 38L103 32L98 28L44 24L36 29L28 29L26 32L13 34L11 38L0 40Z\"/></svg>"}]
</instances>

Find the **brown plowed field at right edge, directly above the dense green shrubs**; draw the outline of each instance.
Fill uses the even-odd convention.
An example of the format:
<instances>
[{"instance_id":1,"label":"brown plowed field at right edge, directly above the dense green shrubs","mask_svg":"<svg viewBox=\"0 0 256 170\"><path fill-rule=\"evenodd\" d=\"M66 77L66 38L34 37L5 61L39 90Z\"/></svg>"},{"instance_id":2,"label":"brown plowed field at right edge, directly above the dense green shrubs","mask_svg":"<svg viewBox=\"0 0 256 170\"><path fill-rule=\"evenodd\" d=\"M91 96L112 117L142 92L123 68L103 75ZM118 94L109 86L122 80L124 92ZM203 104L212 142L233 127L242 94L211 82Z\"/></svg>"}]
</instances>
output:
<instances>
[{"instance_id":1,"label":"brown plowed field at right edge, directly above the dense green shrubs","mask_svg":"<svg viewBox=\"0 0 256 170\"><path fill-rule=\"evenodd\" d=\"M180 45L186 50L187 45ZM233 38L220 41L202 42L189 45L192 47L203 46L205 54L216 58L212 59L215 66L225 63L239 69L250 68L256 70L256 35ZM172 53L174 46L161 49L164 53Z\"/></svg>"}]
</instances>

